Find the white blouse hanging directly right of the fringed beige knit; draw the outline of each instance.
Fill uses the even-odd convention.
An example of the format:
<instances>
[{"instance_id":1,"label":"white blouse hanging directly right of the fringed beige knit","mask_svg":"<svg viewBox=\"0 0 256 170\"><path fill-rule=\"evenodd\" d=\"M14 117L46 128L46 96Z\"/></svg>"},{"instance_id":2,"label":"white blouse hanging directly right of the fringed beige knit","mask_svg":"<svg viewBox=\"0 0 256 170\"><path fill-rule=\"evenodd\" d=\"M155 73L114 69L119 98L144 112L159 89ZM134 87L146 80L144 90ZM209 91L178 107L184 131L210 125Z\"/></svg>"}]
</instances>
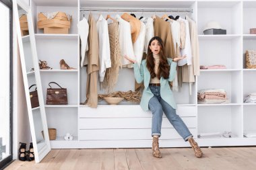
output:
<instances>
[{"instance_id":1,"label":"white blouse hanging directly right of the fringed beige knit","mask_svg":"<svg viewBox=\"0 0 256 170\"><path fill-rule=\"evenodd\" d=\"M119 22L119 43L123 67L132 67L131 62L124 58L127 55L129 58L135 60L133 43L131 41L131 26L129 22L122 19L118 14L115 16L115 19Z\"/></svg>"}]
</instances>

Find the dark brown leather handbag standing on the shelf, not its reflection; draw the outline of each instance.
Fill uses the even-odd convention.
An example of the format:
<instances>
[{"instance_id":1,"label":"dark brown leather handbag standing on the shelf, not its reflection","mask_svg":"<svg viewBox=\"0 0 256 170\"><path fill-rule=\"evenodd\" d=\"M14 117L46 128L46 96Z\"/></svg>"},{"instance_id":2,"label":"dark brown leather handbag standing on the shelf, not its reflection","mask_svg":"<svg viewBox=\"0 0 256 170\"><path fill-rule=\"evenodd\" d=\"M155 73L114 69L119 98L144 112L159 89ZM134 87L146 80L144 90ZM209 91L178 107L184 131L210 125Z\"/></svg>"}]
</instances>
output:
<instances>
[{"instance_id":1,"label":"dark brown leather handbag standing on the shelf, not its reflection","mask_svg":"<svg viewBox=\"0 0 256 170\"><path fill-rule=\"evenodd\" d=\"M50 82L49 86L51 87L51 83L54 83L56 85L58 85L55 82ZM58 85L59 87L61 87L60 85ZM65 88L57 88L57 89L53 89L48 88L47 89L47 94L46 94L46 104L67 104L67 89Z\"/></svg>"}]
</instances>

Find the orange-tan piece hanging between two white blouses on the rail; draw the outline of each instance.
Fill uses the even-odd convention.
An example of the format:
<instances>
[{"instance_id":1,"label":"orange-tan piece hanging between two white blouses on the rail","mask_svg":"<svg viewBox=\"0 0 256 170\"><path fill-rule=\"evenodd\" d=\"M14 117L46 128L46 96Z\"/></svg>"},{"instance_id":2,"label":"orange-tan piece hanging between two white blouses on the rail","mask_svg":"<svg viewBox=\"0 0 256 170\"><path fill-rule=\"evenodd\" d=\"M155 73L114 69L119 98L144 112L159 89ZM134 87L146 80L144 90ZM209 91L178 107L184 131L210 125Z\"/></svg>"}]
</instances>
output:
<instances>
[{"instance_id":1,"label":"orange-tan piece hanging between two white blouses on the rail","mask_svg":"<svg viewBox=\"0 0 256 170\"><path fill-rule=\"evenodd\" d=\"M137 40L137 37L139 36L139 30L140 30L139 19L133 17L132 15L129 15L128 13L123 13L121 18L130 23L130 25L131 25L131 40L134 43Z\"/></svg>"}]
</instances>

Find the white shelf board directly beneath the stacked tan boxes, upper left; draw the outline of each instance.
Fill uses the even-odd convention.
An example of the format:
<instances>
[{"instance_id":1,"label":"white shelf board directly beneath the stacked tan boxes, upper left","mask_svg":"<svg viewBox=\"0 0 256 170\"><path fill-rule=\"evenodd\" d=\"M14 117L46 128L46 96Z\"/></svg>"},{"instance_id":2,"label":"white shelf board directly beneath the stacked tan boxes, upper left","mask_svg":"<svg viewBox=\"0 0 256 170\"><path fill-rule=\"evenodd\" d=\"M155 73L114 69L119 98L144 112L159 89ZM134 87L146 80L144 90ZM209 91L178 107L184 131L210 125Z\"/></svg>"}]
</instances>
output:
<instances>
[{"instance_id":1,"label":"white shelf board directly beneath the stacked tan boxes, upper left","mask_svg":"<svg viewBox=\"0 0 256 170\"><path fill-rule=\"evenodd\" d=\"M79 37L78 34L35 34L36 40L38 39L61 39L61 40L74 40Z\"/></svg>"}]
</instances>

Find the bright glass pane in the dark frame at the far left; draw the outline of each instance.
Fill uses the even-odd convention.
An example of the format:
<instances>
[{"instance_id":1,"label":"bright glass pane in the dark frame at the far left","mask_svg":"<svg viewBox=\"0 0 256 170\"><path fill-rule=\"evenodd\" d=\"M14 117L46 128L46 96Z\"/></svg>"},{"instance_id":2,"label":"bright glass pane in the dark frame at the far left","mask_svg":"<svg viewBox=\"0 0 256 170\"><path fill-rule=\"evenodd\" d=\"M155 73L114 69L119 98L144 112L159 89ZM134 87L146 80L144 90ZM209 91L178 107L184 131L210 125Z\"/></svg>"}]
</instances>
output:
<instances>
[{"instance_id":1,"label":"bright glass pane in the dark frame at the far left","mask_svg":"<svg viewBox=\"0 0 256 170\"><path fill-rule=\"evenodd\" d=\"M9 156L9 9L0 3L0 20L4 26L0 27L0 138L6 146L3 157Z\"/></svg>"}]
</instances>

